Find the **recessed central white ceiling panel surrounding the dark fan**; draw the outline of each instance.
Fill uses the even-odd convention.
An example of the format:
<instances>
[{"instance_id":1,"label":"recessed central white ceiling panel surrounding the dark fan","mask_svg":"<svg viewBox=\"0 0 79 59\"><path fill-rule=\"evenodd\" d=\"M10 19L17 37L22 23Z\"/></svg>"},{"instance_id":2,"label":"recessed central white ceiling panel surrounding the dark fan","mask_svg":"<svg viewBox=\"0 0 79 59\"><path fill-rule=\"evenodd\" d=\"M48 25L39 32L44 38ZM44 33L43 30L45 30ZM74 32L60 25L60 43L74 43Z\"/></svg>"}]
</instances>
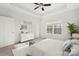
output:
<instances>
[{"instance_id":1,"label":"recessed central white ceiling panel surrounding the dark fan","mask_svg":"<svg viewBox=\"0 0 79 59\"><path fill-rule=\"evenodd\" d=\"M55 13L64 10L66 9L67 6L64 3L51 3L51 6L45 6L44 7L45 11L42 11L41 8L34 10L34 8L37 6L34 3L10 3L10 4L18 8L21 8L27 12L40 16L50 14L51 12Z\"/></svg>"}]
</instances>

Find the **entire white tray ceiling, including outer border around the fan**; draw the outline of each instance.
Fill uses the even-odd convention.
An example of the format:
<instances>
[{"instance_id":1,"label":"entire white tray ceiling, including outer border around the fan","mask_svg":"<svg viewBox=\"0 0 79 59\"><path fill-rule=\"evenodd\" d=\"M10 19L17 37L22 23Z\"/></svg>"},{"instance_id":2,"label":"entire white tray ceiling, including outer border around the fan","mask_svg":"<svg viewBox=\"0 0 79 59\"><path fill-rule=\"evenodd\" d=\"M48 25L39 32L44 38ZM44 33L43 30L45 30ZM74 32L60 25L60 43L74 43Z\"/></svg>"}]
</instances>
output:
<instances>
[{"instance_id":1,"label":"entire white tray ceiling, including outer border around the fan","mask_svg":"<svg viewBox=\"0 0 79 59\"><path fill-rule=\"evenodd\" d=\"M64 10L79 8L79 3L51 3L51 6L44 7L45 11L41 8L34 10L36 5L34 3L0 3L0 15L18 15L28 14L35 17L49 16L61 13ZM26 16L26 15L25 15Z\"/></svg>"}]
</instances>

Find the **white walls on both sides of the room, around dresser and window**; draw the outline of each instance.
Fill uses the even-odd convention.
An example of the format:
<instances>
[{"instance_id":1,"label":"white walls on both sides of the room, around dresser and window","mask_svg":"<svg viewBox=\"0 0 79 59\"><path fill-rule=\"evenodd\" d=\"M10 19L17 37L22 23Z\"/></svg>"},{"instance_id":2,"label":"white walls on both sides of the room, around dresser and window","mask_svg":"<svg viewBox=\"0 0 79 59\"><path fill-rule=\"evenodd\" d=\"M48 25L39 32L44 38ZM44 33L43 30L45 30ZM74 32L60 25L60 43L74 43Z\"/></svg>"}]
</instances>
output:
<instances>
[{"instance_id":1,"label":"white walls on both sides of the room, around dresser and window","mask_svg":"<svg viewBox=\"0 0 79 59\"><path fill-rule=\"evenodd\" d=\"M14 19L16 28L15 42L18 42L20 40L19 28L23 20L32 22L32 32L34 32L35 37L39 37L40 35L43 38L57 38L65 40L69 38L69 32L66 27L67 22L74 22L79 25L79 9L77 8L78 6L76 8L74 7L75 9L73 9L73 7L71 7L72 5L73 4L67 5L67 11L59 12L56 14L53 14L51 12L51 15L49 14L40 17L15 6L11 6L10 4L0 4L0 16ZM62 35L49 35L46 33L46 24L55 22L60 22L63 24Z\"/></svg>"}]
</instances>

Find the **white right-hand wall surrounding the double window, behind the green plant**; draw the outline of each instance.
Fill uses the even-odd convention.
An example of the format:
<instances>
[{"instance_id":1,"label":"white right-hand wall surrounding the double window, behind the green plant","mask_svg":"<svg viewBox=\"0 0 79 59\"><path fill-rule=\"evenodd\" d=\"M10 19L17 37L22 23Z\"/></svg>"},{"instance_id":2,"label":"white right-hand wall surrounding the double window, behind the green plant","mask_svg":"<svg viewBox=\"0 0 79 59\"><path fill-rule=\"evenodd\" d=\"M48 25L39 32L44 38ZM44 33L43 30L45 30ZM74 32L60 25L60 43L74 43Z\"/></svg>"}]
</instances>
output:
<instances>
[{"instance_id":1,"label":"white right-hand wall surrounding the double window, behind the green plant","mask_svg":"<svg viewBox=\"0 0 79 59\"><path fill-rule=\"evenodd\" d=\"M55 23L55 22L59 22L63 25L62 34L61 35L47 34L46 23ZM61 40L69 39L67 22L72 22L79 26L79 9L71 9L59 14L43 17L41 24L41 36L47 38L56 38Z\"/></svg>"}]
</instances>

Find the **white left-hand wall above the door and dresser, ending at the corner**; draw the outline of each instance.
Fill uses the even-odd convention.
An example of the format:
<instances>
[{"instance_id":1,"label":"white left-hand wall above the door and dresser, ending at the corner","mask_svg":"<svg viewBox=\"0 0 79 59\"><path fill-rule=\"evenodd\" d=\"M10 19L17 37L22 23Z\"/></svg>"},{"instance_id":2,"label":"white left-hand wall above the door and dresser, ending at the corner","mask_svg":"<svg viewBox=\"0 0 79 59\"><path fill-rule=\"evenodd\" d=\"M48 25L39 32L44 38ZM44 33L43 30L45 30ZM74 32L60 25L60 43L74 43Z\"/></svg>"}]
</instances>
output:
<instances>
[{"instance_id":1,"label":"white left-hand wall above the door and dresser, ending at the corner","mask_svg":"<svg viewBox=\"0 0 79 59\"><path fill-rule=\"evenodd\" d=\"M0 4L0 16L14 20L16 29L16 39L14 40L15 42L18 42L21 39L19 30L20 30L20 24L22 23L23 20L32 22L32 32L35 34L35 37L39 37L39 20L40 20L39 17L36 17L32 14L28 14L27 12L14 6L11 6L9 4ZM1 47L4 47L1 43L0 45ZM5 46L7 46L7 44L5 44Z\"/></svg>"}]
</instances>

